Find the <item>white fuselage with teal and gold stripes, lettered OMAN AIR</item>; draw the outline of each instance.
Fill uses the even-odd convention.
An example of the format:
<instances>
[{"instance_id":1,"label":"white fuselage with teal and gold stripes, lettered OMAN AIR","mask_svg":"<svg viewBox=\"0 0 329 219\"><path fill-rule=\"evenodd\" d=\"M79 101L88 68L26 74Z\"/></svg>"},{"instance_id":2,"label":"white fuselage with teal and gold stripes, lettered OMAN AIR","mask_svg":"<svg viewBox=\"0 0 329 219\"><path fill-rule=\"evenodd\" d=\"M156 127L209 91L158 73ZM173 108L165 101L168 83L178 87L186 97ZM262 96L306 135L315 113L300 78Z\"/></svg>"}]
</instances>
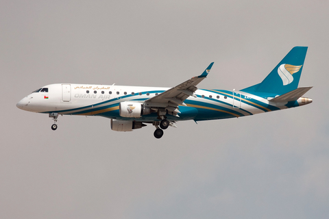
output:
<instances>
[{"instance_id":1,"label":"white fuselage with teal and gold stripes, lettered OMAN AIR","mask_svg":"<svg viewBox=\"0 0 329 219\"><path fill-rule=\"evenodd\" d=\"M47 89L45 89L47 88ZM92 84L58 83L42 87L25 96L17 107L22 110L39 113L58 112L59 114L95 115L102 116L108 108L114 112L119 108L115 105L123 101L145 101L156 96L169 88L138 87L138 86L108 86ZM186 106L180 106L182 116L176 120L191 119L191 116L184 117L186 107L194 107L197 114L206 110L212 113L199 116L200 120L219 119L239 116L248 116L262 112L286 109L287 106L280 103L269 103L268 97L260 97L245 92L230 92L225 90L202 90L195 92L197 97L190 96L186 99ZM273 96L272 96L273 97ZM100 110L103 109L103 110ZM88 110L90 112L88 112ZM106 116L109 118L117 115Z\"/></svg>"}]
</instances>

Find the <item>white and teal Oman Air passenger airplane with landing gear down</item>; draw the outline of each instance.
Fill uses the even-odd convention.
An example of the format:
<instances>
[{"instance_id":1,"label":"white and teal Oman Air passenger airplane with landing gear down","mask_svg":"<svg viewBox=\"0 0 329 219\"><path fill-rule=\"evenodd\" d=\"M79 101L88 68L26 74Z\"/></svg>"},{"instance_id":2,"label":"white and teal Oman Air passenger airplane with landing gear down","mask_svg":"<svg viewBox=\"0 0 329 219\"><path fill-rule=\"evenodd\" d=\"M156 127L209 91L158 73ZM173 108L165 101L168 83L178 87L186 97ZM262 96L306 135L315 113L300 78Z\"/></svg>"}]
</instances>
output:
<instances>
[{"instance_id":1,"label":"white and teal Oman Air passenger airplane with landing gear down","mask_svg":"<svg viewBox=\"0 0 329 219\"><path fill-rule=\"evenodd\" d=\"M303 95L313 87L297 88L308 47L293 47L279 64L254 86L242 90L199 89L212 67L173 88L56 83L25 96L17 107L49 114L58 128L59 115L110 118L113 131L132 131L146 124L163 136L178 121L239 118L312 103Z\"/></svg>"}]
</instances>

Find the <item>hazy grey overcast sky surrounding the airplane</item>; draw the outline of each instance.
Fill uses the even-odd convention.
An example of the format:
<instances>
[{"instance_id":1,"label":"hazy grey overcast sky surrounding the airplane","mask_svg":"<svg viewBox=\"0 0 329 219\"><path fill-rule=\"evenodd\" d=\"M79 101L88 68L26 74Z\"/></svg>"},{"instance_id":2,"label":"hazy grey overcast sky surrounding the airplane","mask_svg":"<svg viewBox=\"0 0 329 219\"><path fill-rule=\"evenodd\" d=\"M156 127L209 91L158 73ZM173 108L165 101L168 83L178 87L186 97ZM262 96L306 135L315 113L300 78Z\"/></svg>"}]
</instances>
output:
<instances>
[{"instance_id":1,"label":"hazy grey overcast sky surrounding the airplane","mask_svg":"<svg viewBox=\"0 0 329 219\"><path fill-rule=\"evenodd\" d=\"M326 2L326 3L325 3ZM0 218L328 218L328 1L3 1ZM120 133L16 108L50 83L262 81L308 47L313 103Z\"/></svg>"}]
</instances>

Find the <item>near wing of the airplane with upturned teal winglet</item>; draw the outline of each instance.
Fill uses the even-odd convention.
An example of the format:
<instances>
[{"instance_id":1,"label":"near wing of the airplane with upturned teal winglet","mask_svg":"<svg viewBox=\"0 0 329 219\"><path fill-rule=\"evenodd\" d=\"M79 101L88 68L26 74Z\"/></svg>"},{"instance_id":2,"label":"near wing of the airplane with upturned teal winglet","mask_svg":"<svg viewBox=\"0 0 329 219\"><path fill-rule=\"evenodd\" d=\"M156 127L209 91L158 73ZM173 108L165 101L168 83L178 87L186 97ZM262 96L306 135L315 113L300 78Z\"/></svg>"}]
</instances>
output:
<instances>
[{"instance_id":1,"label":"near wing of the airplane with upturned teal winglet","mask_svg":"<svg viewBox=\"0 0 329 219\"><path fill-rule=\"evenodd\" d=\"M192 77L191 79L180 83L178 86L147 99L145 101L145 106L153 109L164 108L169 114L178 116L177 114L180 113L178 106L185 105L184 101L188 96L195 96L194 92L197 90L197 84L207 77L212 64L214 64L214 62L210 63L202 75Z\"/></svg>"}]
</instances>

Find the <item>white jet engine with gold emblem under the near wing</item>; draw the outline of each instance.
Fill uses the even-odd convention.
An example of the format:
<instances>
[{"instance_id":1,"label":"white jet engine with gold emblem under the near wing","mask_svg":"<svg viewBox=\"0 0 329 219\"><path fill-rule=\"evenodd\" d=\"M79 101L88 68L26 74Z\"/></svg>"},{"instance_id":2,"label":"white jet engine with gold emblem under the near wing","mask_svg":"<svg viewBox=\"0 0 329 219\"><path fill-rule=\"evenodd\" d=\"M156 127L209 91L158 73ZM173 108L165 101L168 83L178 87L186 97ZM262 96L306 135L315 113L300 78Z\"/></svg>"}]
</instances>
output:
<instances>
[{"instance_id":1,"label":"white jet engine with gold emblem under the near wing","mask_svg":"<svg viewBox=\"0 0 329 219\"><path fill-rule=\"evenodd\" d=\"M119 114L126 118L140 118L142 115L151 113L149 107L145 107L143 104L138 102L121 102L119 105Z\"/></svg>"}]
</instances>

